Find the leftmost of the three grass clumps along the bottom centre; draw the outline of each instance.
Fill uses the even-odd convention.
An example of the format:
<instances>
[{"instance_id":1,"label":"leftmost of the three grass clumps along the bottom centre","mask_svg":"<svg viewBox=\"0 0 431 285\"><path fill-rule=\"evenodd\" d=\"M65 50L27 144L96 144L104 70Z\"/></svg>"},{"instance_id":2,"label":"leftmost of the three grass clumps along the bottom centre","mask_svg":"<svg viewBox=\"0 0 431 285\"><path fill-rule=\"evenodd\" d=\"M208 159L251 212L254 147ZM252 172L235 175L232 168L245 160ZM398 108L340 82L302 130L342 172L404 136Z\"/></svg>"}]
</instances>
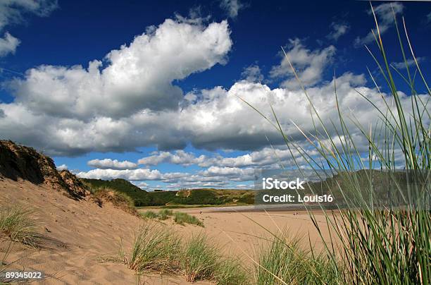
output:
<instances>
[{"instance_id":1,"label":"leftmost of the three grass clumps along the bottom centre","mask_svg":"<svg viewBox=\"0 0 431 285\"><path fill-rule=\"evenodd\" d=\"M154 224L140 226L132 251L124 260L137 272L175 273L180 269L180 238L165 227Z\"/></svg>"}]
</instances>

